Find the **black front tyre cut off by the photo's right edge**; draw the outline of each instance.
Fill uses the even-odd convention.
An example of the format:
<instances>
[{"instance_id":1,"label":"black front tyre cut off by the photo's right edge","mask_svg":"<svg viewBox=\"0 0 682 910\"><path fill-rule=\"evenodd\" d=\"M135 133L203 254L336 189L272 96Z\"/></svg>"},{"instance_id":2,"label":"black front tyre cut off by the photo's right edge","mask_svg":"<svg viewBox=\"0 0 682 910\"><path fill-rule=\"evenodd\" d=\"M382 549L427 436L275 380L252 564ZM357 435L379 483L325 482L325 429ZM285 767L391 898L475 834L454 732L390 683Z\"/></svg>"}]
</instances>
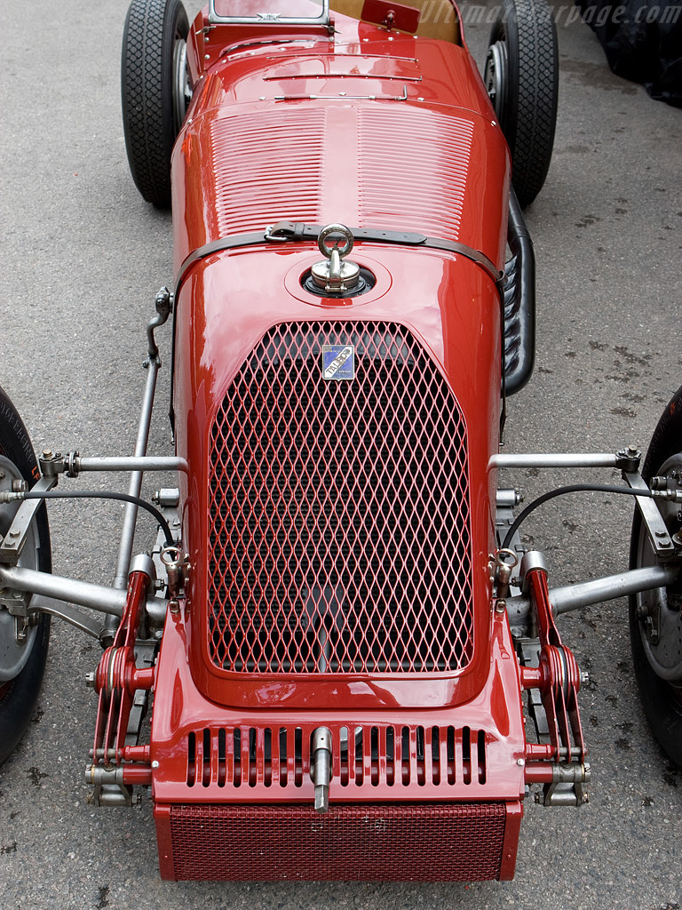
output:
<instances>
[{"instance_id":1,"label":"black front tyre cut off by the photo's right edge","mask_svg":"<svg viewBox=\"0 0 682 910\"><path fill-rule=\"evenodd\" d=\"M672 477L676 472L678 480ZM667 474L682 489L682 388L658 421L642 468L644 480ZM682 521L675 503L659 506L669 534ZM630 541L630 568L654 565L639 511ZM630 644L644 711L658 743L682 768L682 579L665 589L633 594L629 599Z\"/></svg>"}]
</instances>

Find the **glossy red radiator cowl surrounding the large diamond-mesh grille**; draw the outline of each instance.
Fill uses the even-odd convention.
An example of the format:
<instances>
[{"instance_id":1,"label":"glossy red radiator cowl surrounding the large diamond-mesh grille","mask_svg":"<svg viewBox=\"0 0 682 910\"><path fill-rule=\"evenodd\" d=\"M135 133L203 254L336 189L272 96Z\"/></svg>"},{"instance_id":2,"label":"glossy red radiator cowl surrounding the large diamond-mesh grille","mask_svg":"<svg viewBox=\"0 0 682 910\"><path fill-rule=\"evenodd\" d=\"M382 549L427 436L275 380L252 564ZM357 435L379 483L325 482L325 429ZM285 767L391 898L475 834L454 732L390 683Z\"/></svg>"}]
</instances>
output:
<instances>
[{"instance_id":1,"label":"glossy red radiator cowl surrounding the large diamond-mesh grille","mask_svg":"<svg viewBox=\"0 0 682 910\"><path fill-rule=\"evenodd\" d=\"M364 248L358 245L356 259L362 264L367 260L361 251ZM376 258L377 248L371 252ZM188 595L190 603L197 604L196 609L190 607L187 615L188 648L196 684L220 703L263 705L264 680L218 672L206 653L206 428L227 384L265 329L278 322L322 317L324 309L311 307L282 290L283 278L290 269L302 273L315 258L319 258L319 253L311 257L310 252L271 248L216 258L196 268L177 308L176 357L184 363L184 369L183 385L176 386L176 434L179 453L190 464L189 487L184 496L184 533L193 565ZM466 672L436 678L429 674L427 689L416 686L409 677L373 678L371 688L377 707L458 703L480 690L489 663L486 641L491 591L487 561L488 553L494 550L495 490L487 465L496 446L499 302L490 279L466 259L455 261L455 257L444 258L426 251L410 251L407 257L404 250L396 248L382 249L381 258L391 273L392 287L399 288L400 293L386 293L374 303L364 303L364 298L359 298L356 306L334 308L334 315L336 319L360 314L362 319L401 322L423 340L436 362L443 365L448 379L454 377L450 381L465 414L469 440L477 604L474 637L480 646L475 646L474 659ZM240 267L253 268L253 275L243 278L241 287L234 277L234 270ZM429 287L442 288L442 300L425 297L425 288ZM191 308L186 300L192 301ZM408 307L406 301L415 302ZM191 322L186 322L188 318ZM481 417L485 419L480 420ZM485 609L481 609L484 604ZM282 681L278 694L276 680L269 685L269 699L292 707L323 708L333 707L339 698L352 700L356 681L336 676L330 676L328 682L319 678L297 679L295 686Z\"/></svg>"}]
</instances>

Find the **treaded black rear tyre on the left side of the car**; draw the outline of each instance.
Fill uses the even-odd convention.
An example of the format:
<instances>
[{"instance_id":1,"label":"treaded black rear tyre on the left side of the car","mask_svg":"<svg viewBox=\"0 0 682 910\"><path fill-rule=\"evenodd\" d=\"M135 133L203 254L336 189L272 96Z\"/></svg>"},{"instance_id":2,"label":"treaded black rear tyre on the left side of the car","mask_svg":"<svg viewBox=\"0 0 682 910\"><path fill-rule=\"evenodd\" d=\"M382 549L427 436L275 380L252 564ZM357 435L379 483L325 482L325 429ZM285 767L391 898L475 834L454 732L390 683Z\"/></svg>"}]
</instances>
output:
<instances>
[{"instance_id":1,"label":"treaded black rear tyre on the left side of the car","mask_svg":"<svg viewBox=\"0 0 682 910\"><path fill-rule=\"evenodd\" d=\"M171 204L170 160L188 103L187 14L181 0L133 0L125 18L121 101L135 187L159 208Z\"/></svg>"}]
</instances>

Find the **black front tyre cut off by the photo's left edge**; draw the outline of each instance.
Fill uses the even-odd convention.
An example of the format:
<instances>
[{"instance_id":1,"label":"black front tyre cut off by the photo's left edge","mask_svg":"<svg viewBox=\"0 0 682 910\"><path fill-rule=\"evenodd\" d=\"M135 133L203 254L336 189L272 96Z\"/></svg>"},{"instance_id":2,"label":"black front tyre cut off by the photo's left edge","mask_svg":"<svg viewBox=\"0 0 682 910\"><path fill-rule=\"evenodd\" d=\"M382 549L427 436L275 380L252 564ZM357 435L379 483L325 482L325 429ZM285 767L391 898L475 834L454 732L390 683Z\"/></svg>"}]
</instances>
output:
<instances>
[{"instance_id":1,"label":"black front tyre cut off by the photo's left edge","mask_svg":"<svg viewBox=\"0 0 682 910\"><path fill-rule=\"evenodd\" d=\"M0 458L3 459L5 474L0 480L2 489L11 489L12 474L15 478L24 478L29 486L39 476L34 450L24 423L3 389L0 389ZM6 533L14 512L13 506L0 506L0 534ZM39 571L52 571L50 531L45 505L41 506L35 518L35 533L29 549L30 543L30 540L26 541L20 565ZM9 644L11 648L12 640L8 642L6 636L10 634L14 638L14 620L4 608L0 607L0 614L0 636L5 636L4 641L0 641L0 670L3 666L6 670L13 660L7 647ZM34 712L45 672L49 641L50 618L43 615L29 632L28 642L24 646L29 650L27 655L21 657L21 669L9 680L0 679L0 764L15 749ZM3 675L6 676L7 672Z\"/></svg>"}]
</instances>

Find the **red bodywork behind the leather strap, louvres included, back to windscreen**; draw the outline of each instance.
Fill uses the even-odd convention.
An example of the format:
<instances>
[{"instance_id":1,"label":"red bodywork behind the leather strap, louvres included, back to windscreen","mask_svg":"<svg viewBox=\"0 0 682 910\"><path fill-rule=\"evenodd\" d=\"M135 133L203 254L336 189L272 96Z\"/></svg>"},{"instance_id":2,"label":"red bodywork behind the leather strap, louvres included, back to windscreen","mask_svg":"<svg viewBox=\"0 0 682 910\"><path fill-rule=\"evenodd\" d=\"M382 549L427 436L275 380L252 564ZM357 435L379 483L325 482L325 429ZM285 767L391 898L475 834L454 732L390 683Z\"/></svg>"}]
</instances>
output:
<instances>
[{"instance_id":1,"label":"red bodywork behind the leather strap, louvres included, back to windscreen","mask_svg":"<svg viewBox=\"0 0 682 910\"><path fill-rule=\"evenodd\" d=\"M438 217L438 184L435 180L422 183L432 156L437 167L432 168L434 177L445 182L448 162L456 162L466 184L456 232L447 231L446 237L454 238L456 233L462 243L480 249L501 267L508 151L466 48L406 36L389 44L386 33L370 25L347 19L339 25L341 21L334 46L326 40L321 49L316 45L242 48L226 54L201 76L174 153L176 269L190 252L217 239L226 228L228 233L239 233L249 225L262 227L262 218L251 220L262 188L271 217L284 207L289 217L292 209L302 215L309 210L312 219L325 224L340 220L351 227L432 234L437 230L435 236L441 237L446 225ZM365 33L374 33L371 41L363 37ZM393 97L405 88L406 102L362 98L351 102L337 96L344 91L346 96ZM275 100L306 95L336 98ZM381 118L375 135L358 125L358 118L373 115ZM316 116L326 116L328 124L317 126ZM268 155L272 137L268 131L285 119L291 121L285 139L308 143L303 150L296 149L295 160L306 172L303 185L296 173L272 184L276 160ZM260 122L262 133L257 129ZM416 135L419 122L425 124L424 135ZM452 124L460 143L466 140L461 153L453 148ZM243 131L237 138L235 129ZM318 154L306 161L302 155L310 150L313 136ZM226 186L223 170L231 164L228 153L243 156L244 164ZM392 160L394 153L400 156L397 162ZM315 170L308 169L313 165ZM367 179L382 192L388 206L385 212L363 208L364 187L358 187L357 181L358 174L367 171ZM262 212L266 214L267 207ZM382 224L373 224L372 216L372 220L383 217Z\"/></svg>"}]
</instances>

